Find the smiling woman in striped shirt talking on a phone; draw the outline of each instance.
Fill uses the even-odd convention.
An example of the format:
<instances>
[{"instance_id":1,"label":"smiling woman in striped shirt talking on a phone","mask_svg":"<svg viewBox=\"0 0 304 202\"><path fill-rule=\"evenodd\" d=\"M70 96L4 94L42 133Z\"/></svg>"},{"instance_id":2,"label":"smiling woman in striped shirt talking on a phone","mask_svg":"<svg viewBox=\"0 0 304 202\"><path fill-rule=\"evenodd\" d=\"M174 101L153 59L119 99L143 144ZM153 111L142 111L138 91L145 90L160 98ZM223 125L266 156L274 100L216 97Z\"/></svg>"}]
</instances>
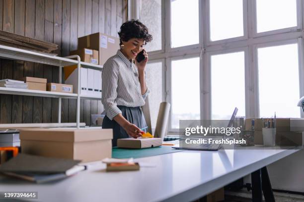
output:
<instances>
[{"instance_id":1,"label":"smiling woman in striped shirt talking on a phone","mask_svg":"<svg viewBox=\"0 0 304 202\"><path fill-rule=\"evenodd\" d=\"M145 80L145 59L137 62L137 55L152 40L148 28L138 20L127 21L120 27L120 50L103 65L102 104L106 116L102 128L113 129L112 146L117 139L138 138L147 127L141 106L149 94ZM135 60L135 64L134 61Z\"/></svg>"}]
</instances>

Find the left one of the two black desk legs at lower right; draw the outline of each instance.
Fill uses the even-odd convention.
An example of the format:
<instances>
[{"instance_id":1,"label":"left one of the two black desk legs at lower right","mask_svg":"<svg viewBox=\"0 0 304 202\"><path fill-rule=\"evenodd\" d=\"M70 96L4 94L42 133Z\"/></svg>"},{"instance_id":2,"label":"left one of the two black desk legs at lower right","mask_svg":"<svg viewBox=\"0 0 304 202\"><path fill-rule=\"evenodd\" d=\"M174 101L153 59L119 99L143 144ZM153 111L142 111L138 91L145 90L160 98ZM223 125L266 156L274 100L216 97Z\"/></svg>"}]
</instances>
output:
<instances>
[{"instance_id":1,"label":"left one of the two black desk legs at lower right","mask_svg":"<svg viewBox=\"0 0 304 202\"><path fill-rule=\"evenodd\" d=\"M263 202L261 169L251 173L252 202Z\"/></svg>"}]
</instances>

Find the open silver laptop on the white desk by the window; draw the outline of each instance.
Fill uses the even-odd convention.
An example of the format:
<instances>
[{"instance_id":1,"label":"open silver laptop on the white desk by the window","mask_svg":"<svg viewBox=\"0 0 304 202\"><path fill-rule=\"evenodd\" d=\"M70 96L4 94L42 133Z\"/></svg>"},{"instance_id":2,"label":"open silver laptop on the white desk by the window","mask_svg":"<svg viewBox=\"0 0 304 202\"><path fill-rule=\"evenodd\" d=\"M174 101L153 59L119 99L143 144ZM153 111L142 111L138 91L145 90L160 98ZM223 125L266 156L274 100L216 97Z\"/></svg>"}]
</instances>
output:
<instances>
[{"instance_id":1,"label":"open silver laptop on the white desk by the window","mask_svg":"<svg viewBox=\"0 0 304 202\"><path fill-rule=\"evenodd\" d=\"M233 110L233 113L231 115L231 118L228 122L228 126L227 128L232 127L233 121L235 119L236 113L237 113L238 109L235 107ZM224 137L224 136L223 136ZM217 137L213 139L222 139L223 137ZM200 139L209 139L210 137L200 137ZM193 137L191 138L193 139ZM181 139L180 139L181 140ZM209 151L217 151L222 147L222 144L201 144L201 145L196 145L196 144L189 144L189 147L172 147L173 149L177 149L177 150L209 150Z\"/></svg>"}]
</instances>

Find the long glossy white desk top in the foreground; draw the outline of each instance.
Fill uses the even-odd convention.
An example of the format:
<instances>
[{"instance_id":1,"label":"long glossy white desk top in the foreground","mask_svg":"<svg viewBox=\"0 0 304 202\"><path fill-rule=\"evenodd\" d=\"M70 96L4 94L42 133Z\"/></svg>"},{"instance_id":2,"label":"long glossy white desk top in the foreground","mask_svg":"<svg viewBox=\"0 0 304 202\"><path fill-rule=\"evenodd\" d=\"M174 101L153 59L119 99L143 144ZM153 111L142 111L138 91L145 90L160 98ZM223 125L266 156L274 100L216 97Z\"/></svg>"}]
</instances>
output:
<instances>
[{"instance_id":1,"label":"long glossy white desk top in the foreground","mask_svg":"<svg viewBox=\"0 0 304 202\"><path fill-rule=\"evenodd\" d=\"M156 165L140 171L106 173L99 163L63 181L40 185L0 176L0 191L38 191L43 202L186 202L301 149L175 152L138 158Z\"/></svg>"}]
</instances>

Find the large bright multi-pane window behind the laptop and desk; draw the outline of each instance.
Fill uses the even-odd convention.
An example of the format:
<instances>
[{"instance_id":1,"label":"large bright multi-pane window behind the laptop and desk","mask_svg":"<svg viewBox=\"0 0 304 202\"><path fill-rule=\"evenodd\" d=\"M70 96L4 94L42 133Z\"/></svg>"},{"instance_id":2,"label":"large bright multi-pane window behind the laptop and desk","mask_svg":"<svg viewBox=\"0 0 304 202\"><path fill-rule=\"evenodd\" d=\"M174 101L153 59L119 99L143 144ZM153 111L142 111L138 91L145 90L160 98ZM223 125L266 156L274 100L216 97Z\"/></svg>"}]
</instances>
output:
<instances>
[{"instance_id":1,"label":"large bright multi-pane window behind the laptop and desk","mask_svg":"<svg viewBox=\"0 0 304 202\"><path fill-rule=\"evenodd\" d=\"M161 23L153 9L140 15L155 18L148 26L163 25L162 46L149 59L163 61L169 132L176 134L180 119L228 119L234 107L248 118L304 116L296 106L304 96L302 0L166 0L161 6Z\"/></svg>"}]
</instances>

